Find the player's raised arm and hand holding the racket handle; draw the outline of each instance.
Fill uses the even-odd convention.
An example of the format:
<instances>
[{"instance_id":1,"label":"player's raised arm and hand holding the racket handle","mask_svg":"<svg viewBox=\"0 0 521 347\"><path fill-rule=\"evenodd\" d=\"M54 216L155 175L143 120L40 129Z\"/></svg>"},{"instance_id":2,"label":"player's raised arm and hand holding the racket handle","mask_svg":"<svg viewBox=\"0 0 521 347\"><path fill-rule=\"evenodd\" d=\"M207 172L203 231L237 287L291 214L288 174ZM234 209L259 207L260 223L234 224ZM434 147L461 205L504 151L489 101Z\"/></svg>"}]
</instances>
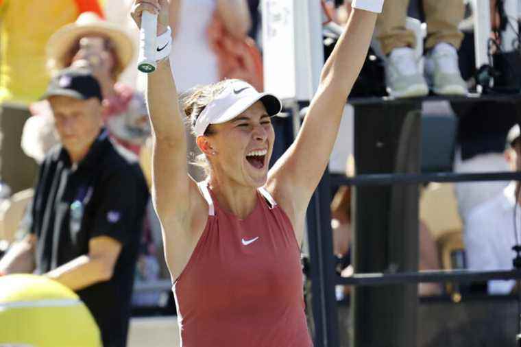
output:
<instances>
[{"instance_id":1,"label":"player's raised arm and hand holding the racket handle","mask_svg":"<svg viewBox=\"0 0 521 347\"><path fill-rule=\"evenodd\" d=\"M167 0L136 0L132 18L141 25L144 10L158 14L158 36L167 32ZM175 88L169 59L157 64L147 75L147 106L152 123L152 198L163 223L182 219L189 206L189 177L186 162L186 139L178 91Z\"/></svg>"}]
</instances>

